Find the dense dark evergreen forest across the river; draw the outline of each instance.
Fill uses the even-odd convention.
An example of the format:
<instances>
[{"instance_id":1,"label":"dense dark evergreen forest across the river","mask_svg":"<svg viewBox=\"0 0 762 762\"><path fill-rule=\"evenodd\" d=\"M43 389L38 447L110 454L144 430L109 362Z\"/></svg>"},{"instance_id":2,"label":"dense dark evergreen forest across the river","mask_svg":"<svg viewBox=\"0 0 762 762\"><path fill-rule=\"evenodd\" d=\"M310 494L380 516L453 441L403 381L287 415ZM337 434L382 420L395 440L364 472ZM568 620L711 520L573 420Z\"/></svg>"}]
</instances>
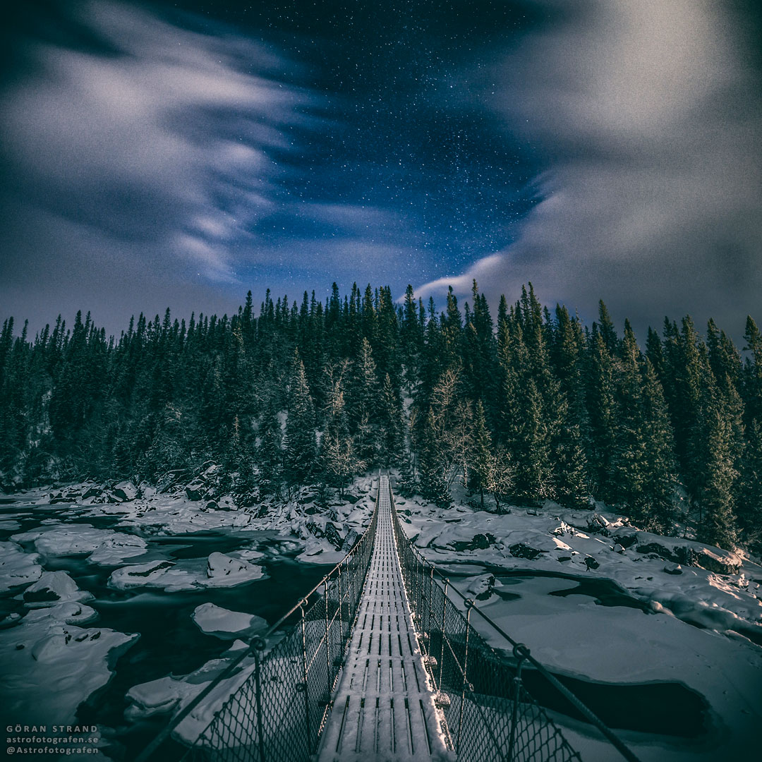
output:
<instances>
[{"instance_id":1,"label":"dense dark evergreen forest across the river","mask_svg":"<svg viewBox=\"0 0 762 762\"><path fill-rule=\"evenodd\" d=\"M496 321L474 283L462 308L411 287L334 285L323 303L251 293L229 318L140 315L118 340L78 314L30 341L0 336L0 471L6 488L51 478L152 482L225 466L242 502L398 466L402 488L450 504L566 506L594 497L671 533L759 546L762 335L741 352L689 317L620 335L540 305L531 286Z\"/></svg>"}]
</instances>

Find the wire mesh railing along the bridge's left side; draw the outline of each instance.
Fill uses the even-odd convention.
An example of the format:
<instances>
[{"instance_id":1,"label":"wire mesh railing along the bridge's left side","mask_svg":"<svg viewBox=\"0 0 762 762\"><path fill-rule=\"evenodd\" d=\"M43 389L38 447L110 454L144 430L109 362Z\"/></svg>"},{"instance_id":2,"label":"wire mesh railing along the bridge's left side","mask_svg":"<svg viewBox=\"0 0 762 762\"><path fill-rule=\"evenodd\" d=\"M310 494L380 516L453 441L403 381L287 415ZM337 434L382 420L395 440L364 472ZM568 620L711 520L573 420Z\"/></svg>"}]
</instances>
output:
<instances>
[{"instance_id":1,"label":"wire mesh railing along the bridge's left side","mask_svg":"<svg viewBox=\"0 0 762 762\"><path fill-rule=\"evenodd\" d=\"M237 687L184 760L307 762L315 754L370 566L378 500L376 491L370 525L344 559L264 635L252 639L250 648L175 716L136 762L151 758L194 709L214 700L226 681ZM293 629L265 653L267 638L284 624Z\"/></svg>"}]
</instances>

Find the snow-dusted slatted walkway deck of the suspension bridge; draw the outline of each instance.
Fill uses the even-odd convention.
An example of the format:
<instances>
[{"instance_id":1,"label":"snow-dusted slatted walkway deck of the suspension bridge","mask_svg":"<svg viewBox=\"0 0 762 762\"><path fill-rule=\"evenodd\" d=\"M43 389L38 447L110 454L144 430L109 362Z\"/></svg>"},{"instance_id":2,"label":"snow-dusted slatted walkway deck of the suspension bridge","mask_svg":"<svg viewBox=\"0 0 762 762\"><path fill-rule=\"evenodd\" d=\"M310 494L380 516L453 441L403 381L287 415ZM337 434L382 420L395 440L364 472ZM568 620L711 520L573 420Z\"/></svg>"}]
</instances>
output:
<instances>
[{"instance_id":1,"label":"snow-dusted slatted walkway deck of the suspension bridge","mask_svg":"<svg viewBox=\"0 0 762 762\"><path fill-rule=\"evenodd\" d=\"M402 583L388 476L380 477L378 511L370 570L319 762L403 762L446 752Z\"/></svg>"}]
</instances>

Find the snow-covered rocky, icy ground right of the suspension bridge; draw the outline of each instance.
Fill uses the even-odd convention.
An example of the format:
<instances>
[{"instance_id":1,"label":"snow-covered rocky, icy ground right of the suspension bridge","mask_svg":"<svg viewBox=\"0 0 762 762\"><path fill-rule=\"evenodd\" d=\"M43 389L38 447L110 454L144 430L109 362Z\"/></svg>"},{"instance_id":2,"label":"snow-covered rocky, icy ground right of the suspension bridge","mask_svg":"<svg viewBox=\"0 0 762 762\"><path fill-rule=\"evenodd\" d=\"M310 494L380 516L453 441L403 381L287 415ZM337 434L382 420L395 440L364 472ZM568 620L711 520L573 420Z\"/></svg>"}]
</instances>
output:
<instances>
[{"instance_id":1,"label":"snow-covered rocky, icy ground right of the suspension bridge","mask_svg":"<svg viewBox=\"0 0 762 762\"><path fill-rule=\"evenodd\" d=\"M555 673L599 684L675 681L706 699L697 738L620 731L642 760L754 758L762 720L762 568L754 559L640 532L604 511L546 504L497 515L464 504L443 511L420 498L397 507L423 555L464 595L479 595L479 609ZM585 592L607 580L622 605L599 605ZM471 621L506 647L481 617ZM585 760L616 758L584 725L562 723Z\"/></svg>"}]
</instances>

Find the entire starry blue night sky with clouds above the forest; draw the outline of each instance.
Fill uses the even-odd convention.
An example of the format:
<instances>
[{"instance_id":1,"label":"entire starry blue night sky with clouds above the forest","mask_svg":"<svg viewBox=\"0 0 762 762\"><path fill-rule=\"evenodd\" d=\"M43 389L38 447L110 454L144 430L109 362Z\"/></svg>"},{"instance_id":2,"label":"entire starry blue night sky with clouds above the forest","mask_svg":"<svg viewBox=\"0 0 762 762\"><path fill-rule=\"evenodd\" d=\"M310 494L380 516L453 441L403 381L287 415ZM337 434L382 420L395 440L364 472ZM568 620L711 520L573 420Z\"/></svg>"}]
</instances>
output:
<instances>
[{"instance_id":1,"label":"entire starry blue night sky with clouds above the forest","mask_svg":"<svg viewBox=\"0 0 762 762\"><path fill-rule=\"evenodd\" d=\"M0 318L356 281L762 322L754 2L40 2L2 24Z\"/></svg>"}]
</instances>

